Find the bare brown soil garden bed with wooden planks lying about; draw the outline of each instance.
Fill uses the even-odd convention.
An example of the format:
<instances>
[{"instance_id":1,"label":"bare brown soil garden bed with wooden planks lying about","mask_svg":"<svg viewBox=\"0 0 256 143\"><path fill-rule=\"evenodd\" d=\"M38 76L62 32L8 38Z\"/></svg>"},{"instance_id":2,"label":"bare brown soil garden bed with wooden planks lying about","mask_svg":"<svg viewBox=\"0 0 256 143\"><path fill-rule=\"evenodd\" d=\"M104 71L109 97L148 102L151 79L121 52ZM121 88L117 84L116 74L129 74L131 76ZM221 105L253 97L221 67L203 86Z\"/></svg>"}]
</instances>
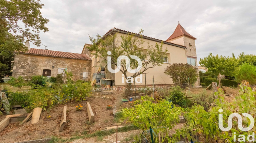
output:
<instances>
[{"instance_id":1,"label":"bare brown soil garden bed with wooden planks lying about","mask_svg":"<svg viewBox=\"0 0 256 143\"><path fill-rule=\"evenodd\" d=\"M113 110L107 110L106 107L107 105L118 104L115 99L120 95L109 94L106 96L112 98L87 98L82 102L70 102L64 105L54 106L50 110L42 112L40 120L36 124L31 124L30 121L21 126L19 126L19 123L10 123L0 133L0 142L12 143L52 136L68 138L74 135L79 136L79 134L84 132L91 133L96 130L102 130L106 127L113 126L115 124ZM93 124L88 123L86 102L90 103L91 108L94 111L95 119ZM79 104L83 106L83 110L81 112L76 112L75 106ZM67 123L64 130L59 132L59 125L64 106L67 106ZM2 117L5 117L5 115L2 115L0 118Z\"/></svg>"}]
</instances>

